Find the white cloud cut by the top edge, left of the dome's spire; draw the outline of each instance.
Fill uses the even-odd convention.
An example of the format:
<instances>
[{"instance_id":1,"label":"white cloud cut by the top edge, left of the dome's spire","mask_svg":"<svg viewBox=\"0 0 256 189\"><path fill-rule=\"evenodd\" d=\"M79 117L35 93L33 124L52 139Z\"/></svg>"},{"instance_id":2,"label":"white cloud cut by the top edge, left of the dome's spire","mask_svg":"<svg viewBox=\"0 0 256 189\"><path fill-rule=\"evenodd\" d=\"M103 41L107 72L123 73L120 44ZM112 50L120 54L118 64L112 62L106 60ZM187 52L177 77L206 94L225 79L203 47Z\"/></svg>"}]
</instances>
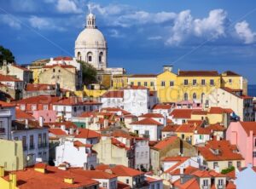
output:
<instances>
[{"instance_id":1,"label":"white cloud cut by the top edge, left of the dome's spire","mask_svg":"<svg viewBox=\"0 0 256 189\"><path fill-rule=\"evenodd\" d=\"M58 0L56 9L60 13L82 13L79 9L77 2L74 0Z\"/></svg>"}]
</instances>

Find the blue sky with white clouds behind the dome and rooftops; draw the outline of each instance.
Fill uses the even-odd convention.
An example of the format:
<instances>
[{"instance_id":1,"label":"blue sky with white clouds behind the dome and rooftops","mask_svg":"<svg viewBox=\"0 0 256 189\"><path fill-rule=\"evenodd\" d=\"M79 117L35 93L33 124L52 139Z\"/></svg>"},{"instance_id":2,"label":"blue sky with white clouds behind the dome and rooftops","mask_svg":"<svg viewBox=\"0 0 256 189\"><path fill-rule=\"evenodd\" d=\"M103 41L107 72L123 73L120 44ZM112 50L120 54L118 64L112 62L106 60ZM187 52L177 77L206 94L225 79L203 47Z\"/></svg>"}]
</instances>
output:
<instances>
[{"instance_id":1,"label":"blue sky with white clouds behind the dome and rooftops","mask_svg":"<svg viewBox=\"0 0 256 189\"><path fill-rule=\"evenodd\" d=\"M73 56L88 8L108 41L108 65L129 73L233 70L256 84L253 0L0 0L0 44L18 63Z\"/></svg>"}]
</instances>

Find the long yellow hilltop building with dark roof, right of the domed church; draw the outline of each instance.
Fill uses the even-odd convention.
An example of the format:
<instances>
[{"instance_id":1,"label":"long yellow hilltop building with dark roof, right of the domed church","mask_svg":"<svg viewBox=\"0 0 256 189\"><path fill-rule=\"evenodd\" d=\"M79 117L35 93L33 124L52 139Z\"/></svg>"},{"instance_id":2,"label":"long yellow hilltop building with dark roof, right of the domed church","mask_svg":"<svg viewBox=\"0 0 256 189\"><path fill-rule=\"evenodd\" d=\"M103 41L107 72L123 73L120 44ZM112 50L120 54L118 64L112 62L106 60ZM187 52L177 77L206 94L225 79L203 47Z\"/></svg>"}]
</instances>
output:
<instances>
[{"instance_id":1,"label":"long yellow hilltop building with dark roof, right of the domed church","mask_svg":"<svg viewBox=\"0 0 256 189\"><path fill-rule=\"evenodd\" d=\"M214 89L228 87L244 89L246 92L247 88L243 77L235 72L218 74L217 71L178 71L176 74L172 72L172 66L164 66L164 71L158 75L135 74L113 77L113 89L120 89L126 85L139 85L156 90L160 102L201 102L203 97L211 94Z\"/></svg>"}]
</instances>

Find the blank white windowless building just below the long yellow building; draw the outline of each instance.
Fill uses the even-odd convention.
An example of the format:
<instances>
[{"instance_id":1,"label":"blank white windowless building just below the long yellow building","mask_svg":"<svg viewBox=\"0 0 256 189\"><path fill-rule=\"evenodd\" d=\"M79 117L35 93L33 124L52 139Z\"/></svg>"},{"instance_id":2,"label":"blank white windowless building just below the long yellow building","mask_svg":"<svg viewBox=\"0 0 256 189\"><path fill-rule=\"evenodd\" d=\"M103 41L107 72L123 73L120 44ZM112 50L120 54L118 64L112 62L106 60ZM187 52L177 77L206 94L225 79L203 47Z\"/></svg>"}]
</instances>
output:
<instances>
[{"instance_id":1,"label":"blank white windowless building just below the long yellow building","mask_svg":"<svg viewBox=\"0 0 256 189\"><path fill-rule=\"evenodd\" d=\"M131 86L124 89L124 109L140 116L150 108L149 90L143 86Z\"/></svg>"}]
</instances>

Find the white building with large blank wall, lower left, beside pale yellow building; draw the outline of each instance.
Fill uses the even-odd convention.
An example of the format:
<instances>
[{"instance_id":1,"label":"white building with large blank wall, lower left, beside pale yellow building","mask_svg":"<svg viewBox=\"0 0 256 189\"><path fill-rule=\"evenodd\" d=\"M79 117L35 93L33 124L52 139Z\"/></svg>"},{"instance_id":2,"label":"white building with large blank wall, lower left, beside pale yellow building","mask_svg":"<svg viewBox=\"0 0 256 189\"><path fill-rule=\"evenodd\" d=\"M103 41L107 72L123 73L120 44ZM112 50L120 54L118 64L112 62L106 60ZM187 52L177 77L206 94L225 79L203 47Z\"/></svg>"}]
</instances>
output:
<instances>
[{"instance_id":1,"label":"white building with large blank wall, lower left, beside pale yellow building","mask_svg":"<svg viewBox=\"0 0 256 189\"><path fill-rule=\"evenodd\" d=\"M56 146L55 166L67 162L71 167L93 169L96 167L96 152L91 149L92 145L76 139L67 139Z\"/></svg>"}]
</instances>

